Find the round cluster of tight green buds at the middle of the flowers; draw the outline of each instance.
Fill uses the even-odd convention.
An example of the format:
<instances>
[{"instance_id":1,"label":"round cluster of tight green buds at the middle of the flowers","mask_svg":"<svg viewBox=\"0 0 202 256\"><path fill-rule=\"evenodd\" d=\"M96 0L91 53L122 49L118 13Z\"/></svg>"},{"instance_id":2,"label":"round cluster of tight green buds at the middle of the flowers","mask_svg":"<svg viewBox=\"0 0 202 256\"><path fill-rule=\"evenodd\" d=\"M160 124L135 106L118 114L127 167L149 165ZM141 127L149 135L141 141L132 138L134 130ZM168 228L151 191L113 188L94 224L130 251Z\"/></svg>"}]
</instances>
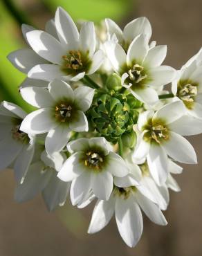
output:
<instances>
[{"instance_id":1,"label":"round cluster of tight green buds at the middle of the flowers","mask_svg":"<svg viewBox=\"0 0 202 256\"><path fill-rule=\"evenodd\" d=\"M133 95L132 97L134 98ZM127 101L126 95L114 91L113 94L95 93L86 115L88 120L91 120L90 127L95 129L99 136L104 136L115 144L120 136L133 132L139 114ZM134 140L134 137L132 139Z\"/></svg>"}]
</instances>

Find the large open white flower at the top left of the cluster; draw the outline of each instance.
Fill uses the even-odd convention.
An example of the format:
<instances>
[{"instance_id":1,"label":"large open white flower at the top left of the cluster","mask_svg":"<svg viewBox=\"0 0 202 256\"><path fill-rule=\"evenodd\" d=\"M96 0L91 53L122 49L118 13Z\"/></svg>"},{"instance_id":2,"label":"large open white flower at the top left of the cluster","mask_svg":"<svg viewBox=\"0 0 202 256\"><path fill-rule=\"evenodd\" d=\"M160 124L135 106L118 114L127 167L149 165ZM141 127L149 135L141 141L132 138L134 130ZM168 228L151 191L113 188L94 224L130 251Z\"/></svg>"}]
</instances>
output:
<instances>
[{"instance_id":1,"label":"large open white flower at the top left of the cluster","mask_svg":"<svg viewBox=\"0 0 202 256\"><path fill-rule=\"evenodd\" d=\"M62 8L57 8L52 25L56 30L54 35L51 29L50 33L42 30L32 30L26 33L28 44L39 57L42 57L41 61L37 62L37 58L30 58L30 49L28 53L24 52L24 62L30 62L30 59L35 62L35 66L28 71L28 77L48 82L55 78L77 81L85 74L95 73L102 64L103 53L101 50L95 52L96 39L93 22L82 24L79 33L68 13ZM59 40L55 38L55 34ZM9 57L12 63L15 62L13 59L17 54L21 56L21 53L17 52ZM30 64L29 68L33 64Z\"/></svg>"}]
</instances>

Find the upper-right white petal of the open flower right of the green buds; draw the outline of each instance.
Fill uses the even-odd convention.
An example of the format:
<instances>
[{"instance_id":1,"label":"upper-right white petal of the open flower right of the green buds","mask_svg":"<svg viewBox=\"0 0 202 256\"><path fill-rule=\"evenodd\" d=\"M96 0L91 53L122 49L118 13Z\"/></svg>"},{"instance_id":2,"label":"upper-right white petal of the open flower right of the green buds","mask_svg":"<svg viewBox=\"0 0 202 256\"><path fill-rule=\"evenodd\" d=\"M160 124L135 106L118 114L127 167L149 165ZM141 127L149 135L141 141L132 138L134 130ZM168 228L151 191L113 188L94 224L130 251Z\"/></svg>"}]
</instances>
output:
<instances>
[{"instance_id":1,"label":"upper-right white petal of the open flower right of the green buds","mask_svg":"<svg viewBox=\"0 0 202 256\"><path fill-rule=\"evenodd\" d=\"M154 114L154 120L165 120L166 124L171 124L172 122L181 118L181 116L185 115L185 113L186 109L183 102L181 102L181 100L178 100L166 104L161 109L156 111L156 113Z\"/></svg>"}]
</instances>

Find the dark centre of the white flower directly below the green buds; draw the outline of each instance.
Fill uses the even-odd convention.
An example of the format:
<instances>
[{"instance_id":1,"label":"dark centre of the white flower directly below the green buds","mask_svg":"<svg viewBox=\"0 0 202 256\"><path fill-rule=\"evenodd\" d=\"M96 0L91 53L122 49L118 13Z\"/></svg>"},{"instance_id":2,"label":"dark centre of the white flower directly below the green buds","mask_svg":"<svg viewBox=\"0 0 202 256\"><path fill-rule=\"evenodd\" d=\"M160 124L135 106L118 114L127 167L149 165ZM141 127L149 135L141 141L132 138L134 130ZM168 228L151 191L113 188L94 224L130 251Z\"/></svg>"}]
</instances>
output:
<instances>
[{"instance_id":1,"label":"dark centre of the white flower directly below the green buds","mask_svg":"<svg viewBox=\"0 0 202 256\"><path fill-rule=\"evenodd\" d=\"M93 168L95 170L100 170L102 167L104 159L100 154L96 152L87 152L86 159L84 160L84 164L87 167Z\"/></svg>"}]
</instances>

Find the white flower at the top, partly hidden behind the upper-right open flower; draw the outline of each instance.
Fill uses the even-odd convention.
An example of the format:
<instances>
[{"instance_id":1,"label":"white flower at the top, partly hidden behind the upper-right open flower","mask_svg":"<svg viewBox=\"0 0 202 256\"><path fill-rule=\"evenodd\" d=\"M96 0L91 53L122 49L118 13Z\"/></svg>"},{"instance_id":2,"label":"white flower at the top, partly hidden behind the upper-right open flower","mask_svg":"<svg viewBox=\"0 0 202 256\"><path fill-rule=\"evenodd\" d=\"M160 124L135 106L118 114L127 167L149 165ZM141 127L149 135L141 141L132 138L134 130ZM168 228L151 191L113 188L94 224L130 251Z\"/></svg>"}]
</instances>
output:
<instances>
[{"instance_id":1,"label":"white flower at the top, partly hidden behind the upper-right open flower","mask_svg":"<svg viewBox=\"0 0 202 256\"><path fill-rule=\"evenodd\" d=\"M135 37L140 34L145 34L147 37L147 42L152 36L152 27L149 20L146 17L140 17L129 22L123 29L111 19L105 19L107 26L107 34L109 40L114 40L116 35L117 42L127 50L131 42Z\"/></svg>"}]
</instances>

